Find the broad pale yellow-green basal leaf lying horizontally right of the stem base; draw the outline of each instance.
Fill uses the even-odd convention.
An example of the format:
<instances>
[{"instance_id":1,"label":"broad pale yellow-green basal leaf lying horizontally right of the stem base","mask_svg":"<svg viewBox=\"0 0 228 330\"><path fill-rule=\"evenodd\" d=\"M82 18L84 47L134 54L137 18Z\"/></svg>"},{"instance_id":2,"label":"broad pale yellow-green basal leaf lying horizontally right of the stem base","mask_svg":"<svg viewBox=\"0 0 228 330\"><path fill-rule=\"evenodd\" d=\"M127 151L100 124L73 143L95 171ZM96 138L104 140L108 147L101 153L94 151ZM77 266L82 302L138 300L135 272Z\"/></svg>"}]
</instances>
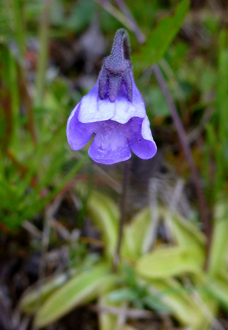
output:
<instances>
[{"instance_id":1,"label":"broad pale yellow-green basal leaf lying horizontally right of the stem base","mask_svg":"<svg viewBox=\"0 0 228 330\"><path fill-rule=\"evenodd\" d=\"M153 278L169 278L184 273L200 275L204 262L204 254L194 247L165 247L150 252L136 262L139 276Z\"/></svg>"}]
</instances>

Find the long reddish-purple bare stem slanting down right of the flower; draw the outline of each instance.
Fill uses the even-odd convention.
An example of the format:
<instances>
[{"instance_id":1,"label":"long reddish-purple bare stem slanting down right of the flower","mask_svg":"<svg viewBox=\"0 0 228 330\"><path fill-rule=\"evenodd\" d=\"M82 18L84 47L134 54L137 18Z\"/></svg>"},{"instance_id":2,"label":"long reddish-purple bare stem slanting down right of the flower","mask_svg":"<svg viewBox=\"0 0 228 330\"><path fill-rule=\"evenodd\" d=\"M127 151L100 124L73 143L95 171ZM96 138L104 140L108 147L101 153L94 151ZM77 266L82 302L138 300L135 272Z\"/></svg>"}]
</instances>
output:
<instances>
[{"instance_id":1,"label":"long reddish-purple bare stem slanting down right of the flower","mask_svg":"<svg viewBox=\"0 0 228 330\"><path fill-rule=\"evenodd\" d=\"M207 206L207 202L206 202L204 192L203 192L203 189L202 189L202 186L201 186L200 176L199 176L199 173L197 171L196 164L194 162L191 149L188 145L188 140L187 140L186 133L184 131L184 127L183 127L182 122L180 120L180 117L178 115L175 104L172 100L172 97L169 93L166 82L165 82L165 80L162 76L160 68L158 67L158 65L153 65L152 70L155 73L157 81L160 85L160 88L161 88L161 90L163 92L163 95L165 96L166 102L169 106L171 116L172 116L174 125L176 127L176 130L177 130L177 133L178 133L178 136L179 136L180 143L182 145L186 160L188 162L188 166L189 166L189 168L191 170L191 173L192 173L193 182L194 182L197 197L198 197L200 215L201 215L201 218L202 218L202 221L203 221L203 224L204 224L204 232L205 232L205 235L207 237L207 256L208 256L209 249L210 249L210 241L211 241L211 226L210 226L210 220L209 220L209 214L208 214L208 206ZM206 260L207 260L207 258L206 258Z\"/></svg>"}]
</instances>

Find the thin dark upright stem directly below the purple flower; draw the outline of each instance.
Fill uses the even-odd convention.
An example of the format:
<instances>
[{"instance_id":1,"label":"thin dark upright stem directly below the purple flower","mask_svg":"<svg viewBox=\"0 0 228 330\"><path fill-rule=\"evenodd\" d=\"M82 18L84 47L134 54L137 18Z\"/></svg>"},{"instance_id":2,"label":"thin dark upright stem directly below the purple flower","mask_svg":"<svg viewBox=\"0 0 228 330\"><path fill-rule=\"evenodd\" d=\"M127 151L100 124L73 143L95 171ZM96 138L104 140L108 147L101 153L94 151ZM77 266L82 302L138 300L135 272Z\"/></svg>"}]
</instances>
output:
<instances>
[{"instance_id":1,"label":"thin dark upright stem directly below the purple flower","mask_svg":"<svg viewBox=\"0 0 228 330\"><path fill-rule=\"evenodd\" d=\"M124 223L126 220L126 201L127 201L127 186L128 186L129 170L130 170L130 161L127 160L124 162L124 170L123 170L122 195L121 195L121 203L120 203L121 219L120 219L120 226L119 226L117 250L116 250L116 254L114 256L114 260L113 260L114 270L117 269L117 267L120 263L120 252L121 252L121 245L122 245L122 241L123 241Z\"/></svg>"}]
</instances>

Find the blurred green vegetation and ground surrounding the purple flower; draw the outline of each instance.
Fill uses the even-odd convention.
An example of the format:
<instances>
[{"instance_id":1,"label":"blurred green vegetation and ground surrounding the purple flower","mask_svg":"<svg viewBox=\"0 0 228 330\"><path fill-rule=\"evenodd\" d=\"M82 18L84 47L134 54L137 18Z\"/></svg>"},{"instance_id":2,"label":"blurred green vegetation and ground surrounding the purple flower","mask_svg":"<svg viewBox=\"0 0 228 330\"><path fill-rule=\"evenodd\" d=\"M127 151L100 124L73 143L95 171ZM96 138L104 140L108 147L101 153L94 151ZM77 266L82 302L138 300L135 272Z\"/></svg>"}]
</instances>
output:
<instances>
[{"instance_id":1,"label":"blurred green vegetation and ground surrounding the purple flower","mask_svg":"<svg viewBox=\"0 0 228 330\"><path fill-rule=\"evenodd\" d=\"M227 14L225 0L1 0L2 330L228 329ZM113 271L123 164L73 152L65 129L120 27L158 152L132 155Z\"/></svg>"}]
</instances>

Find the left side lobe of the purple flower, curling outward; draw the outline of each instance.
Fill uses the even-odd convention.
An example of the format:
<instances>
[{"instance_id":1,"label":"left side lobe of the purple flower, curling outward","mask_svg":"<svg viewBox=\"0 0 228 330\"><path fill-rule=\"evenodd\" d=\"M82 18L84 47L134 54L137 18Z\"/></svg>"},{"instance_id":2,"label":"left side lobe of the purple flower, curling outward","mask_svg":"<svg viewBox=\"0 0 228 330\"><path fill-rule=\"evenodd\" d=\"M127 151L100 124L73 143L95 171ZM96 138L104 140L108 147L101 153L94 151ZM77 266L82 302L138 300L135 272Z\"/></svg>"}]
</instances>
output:
<instances>
[{"instance_id":1,"label":"left side lobe of the purple flower, curling outward","mask_svg":"<svg viewBox=\"0 0 228 330\"><path fill-rule=\"evenodd\" d=\"M73 109L66 125L67 141L73 150L83 148L90 141L96 129L96 123L83 124L78 120L80 107L79 103Z\"/></svg>"}]
</instances>

